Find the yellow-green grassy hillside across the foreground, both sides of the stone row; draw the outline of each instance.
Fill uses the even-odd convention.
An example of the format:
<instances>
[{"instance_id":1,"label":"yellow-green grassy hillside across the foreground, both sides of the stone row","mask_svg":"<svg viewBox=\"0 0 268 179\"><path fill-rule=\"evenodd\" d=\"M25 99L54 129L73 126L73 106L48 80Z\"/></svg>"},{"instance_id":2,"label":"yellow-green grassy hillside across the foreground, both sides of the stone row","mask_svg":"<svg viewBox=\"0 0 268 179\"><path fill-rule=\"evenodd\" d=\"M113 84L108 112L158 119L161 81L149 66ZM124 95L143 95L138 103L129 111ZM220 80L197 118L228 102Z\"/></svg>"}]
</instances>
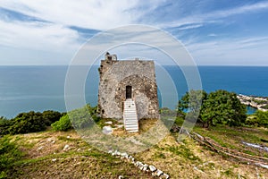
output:
<instances>
[{"instance_id":1,"label":"yellow-green grassy hillside across the foreground, both sides of the stone row","mask_svg":"<svg viewBox=\"0 0 268 179\"><path fill-rule=\"evenodd\" d=\"M252 149L241 141L261 143L267 139L263 128L218 126L196 132L222 146L267 157L267 152ZM152 178L126 160L98 151L82 141L75 131L36 132L9 137L24 156L6 171L8 178ZM263 140L261 140L263 139ZM267 146L267 143L263 142ZM155 165L171 178L268 178L268 170L215 153L193 139L178 143L176 134L166 136L151 149L133 155Z\"/></svg>"}]
</instances>

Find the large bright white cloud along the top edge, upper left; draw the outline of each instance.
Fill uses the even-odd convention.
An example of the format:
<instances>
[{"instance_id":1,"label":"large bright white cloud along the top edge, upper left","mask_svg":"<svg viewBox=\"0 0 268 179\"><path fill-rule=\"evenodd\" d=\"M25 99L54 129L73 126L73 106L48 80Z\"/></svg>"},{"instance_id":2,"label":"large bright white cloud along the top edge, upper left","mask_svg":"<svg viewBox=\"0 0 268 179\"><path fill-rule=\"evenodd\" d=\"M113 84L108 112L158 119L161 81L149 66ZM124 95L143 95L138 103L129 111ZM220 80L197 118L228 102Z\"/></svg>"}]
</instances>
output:
<instances>
[{"instance_id":1,"label":"large bright white cloud along the top edge, upper left","mask_svg":"<svg viewBox=\"0 0 268 179\"><path fill-rule=\"evenodd\" d=\"M0 6L66 26L107 30L123 24L136 23L144 13L138 6L153 10L160 1L117 0L2 0ZM148 5L151 4L151 5ZM31 11L29 11L31 10Z\"/></svg>"}]
</instances>

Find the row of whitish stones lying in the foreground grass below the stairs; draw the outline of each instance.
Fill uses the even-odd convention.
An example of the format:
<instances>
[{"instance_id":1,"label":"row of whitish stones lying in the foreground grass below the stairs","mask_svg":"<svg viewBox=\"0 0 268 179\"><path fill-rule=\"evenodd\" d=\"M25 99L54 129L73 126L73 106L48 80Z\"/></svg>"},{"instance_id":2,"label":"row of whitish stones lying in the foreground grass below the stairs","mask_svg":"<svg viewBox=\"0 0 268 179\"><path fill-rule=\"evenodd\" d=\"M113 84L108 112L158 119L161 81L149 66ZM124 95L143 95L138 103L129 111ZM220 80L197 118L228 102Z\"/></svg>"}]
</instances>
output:
<instances>
[{"instance_id":1,"label":"row of whitish stones lying in the foreground grass below the stairs","mask_svg":"<svg viewBox=\"0 0 268 179\"><path fill-rule=\"evenodd\" d=\"M114 150L114 151L109 150L108 153L116 158L125 159L128 162L131 162L132 164L134 164L134 166L138 167L140 170L142 170L146 173L151 173L151 175L153 175L153 176L157 176L157 177L162 178L162 179L170 178L170 176L167 174L164 174L162 170L156 168L155 166L149 166L147 164L143 164L142 162L136 160L135 158L133 158L132 156L128 155L125 152L121 153L117 150Z\"/></svg>"}]
</instances>

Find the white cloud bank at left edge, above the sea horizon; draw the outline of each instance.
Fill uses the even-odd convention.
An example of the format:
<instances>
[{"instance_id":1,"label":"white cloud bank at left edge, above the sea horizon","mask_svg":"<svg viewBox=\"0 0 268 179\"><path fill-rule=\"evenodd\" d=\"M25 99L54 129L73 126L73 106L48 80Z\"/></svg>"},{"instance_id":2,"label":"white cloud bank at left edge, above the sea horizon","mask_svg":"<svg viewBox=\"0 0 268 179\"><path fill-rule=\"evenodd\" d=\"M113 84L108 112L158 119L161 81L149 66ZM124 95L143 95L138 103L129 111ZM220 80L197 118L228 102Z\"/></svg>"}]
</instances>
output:
<instances>
[{"instance_id":1,"label":"white cloud bank at left edge, above the sea horizon","mask_svg":"<svg viewBox=\"0 0 268 179\"><path fill-rule=\"evenodd\" d=\"M62 25L41 22L0 21L0 44L57 51L77 47L79 34Z\"/></svg>"}]
</instances>

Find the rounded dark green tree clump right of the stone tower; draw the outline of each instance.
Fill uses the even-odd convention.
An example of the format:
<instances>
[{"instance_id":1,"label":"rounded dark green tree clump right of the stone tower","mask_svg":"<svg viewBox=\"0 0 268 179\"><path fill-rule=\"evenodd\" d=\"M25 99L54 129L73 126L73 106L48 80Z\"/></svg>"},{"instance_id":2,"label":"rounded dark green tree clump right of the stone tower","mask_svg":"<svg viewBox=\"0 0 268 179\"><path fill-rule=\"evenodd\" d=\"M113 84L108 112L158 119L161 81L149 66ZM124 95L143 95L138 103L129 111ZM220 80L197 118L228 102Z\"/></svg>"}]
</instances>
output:
<instances>
[{"instance_id":1,"label":"rounded dark green tree clump right of the stone tower","mask_svg":"<svg viewBox=\"0 0 268 179\"><path fill-rule=\"evenodd\" d=\"M237 126L244 124L247 118L246 107L235 93L226 90L216 90L209 94L204 90L190 90L180 99L177 116L185 116L185 110L188 110L188 119L197 118L203 127L211 124Z\"/></svg>"}]
</instances>

